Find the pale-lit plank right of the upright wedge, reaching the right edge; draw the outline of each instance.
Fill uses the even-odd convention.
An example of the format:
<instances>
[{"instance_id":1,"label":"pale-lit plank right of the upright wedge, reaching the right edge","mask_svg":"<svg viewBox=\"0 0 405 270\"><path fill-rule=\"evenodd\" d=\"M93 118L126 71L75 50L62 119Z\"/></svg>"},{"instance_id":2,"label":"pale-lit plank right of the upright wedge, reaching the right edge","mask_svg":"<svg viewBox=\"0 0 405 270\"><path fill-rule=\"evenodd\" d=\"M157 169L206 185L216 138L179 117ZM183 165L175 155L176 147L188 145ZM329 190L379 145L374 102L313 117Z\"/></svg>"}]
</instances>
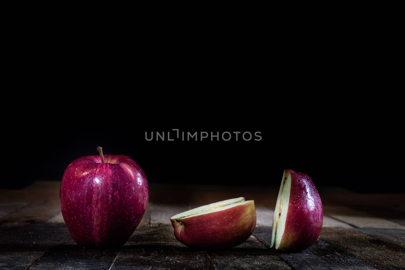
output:
<instances>
[{"instance_id":1,"label":"pale-lit plank right of the upright wedge, reaching the right edge","mask_svg":"<svg viewBox=\"0 0 405 270\"><path fill-rule=\"evenodd\" d=\"M405 226L398 223L379 217L373 217L367 213L346 206L324 206L324 215L360 228L405 229Z\"/></svg>"}]
</instances>

